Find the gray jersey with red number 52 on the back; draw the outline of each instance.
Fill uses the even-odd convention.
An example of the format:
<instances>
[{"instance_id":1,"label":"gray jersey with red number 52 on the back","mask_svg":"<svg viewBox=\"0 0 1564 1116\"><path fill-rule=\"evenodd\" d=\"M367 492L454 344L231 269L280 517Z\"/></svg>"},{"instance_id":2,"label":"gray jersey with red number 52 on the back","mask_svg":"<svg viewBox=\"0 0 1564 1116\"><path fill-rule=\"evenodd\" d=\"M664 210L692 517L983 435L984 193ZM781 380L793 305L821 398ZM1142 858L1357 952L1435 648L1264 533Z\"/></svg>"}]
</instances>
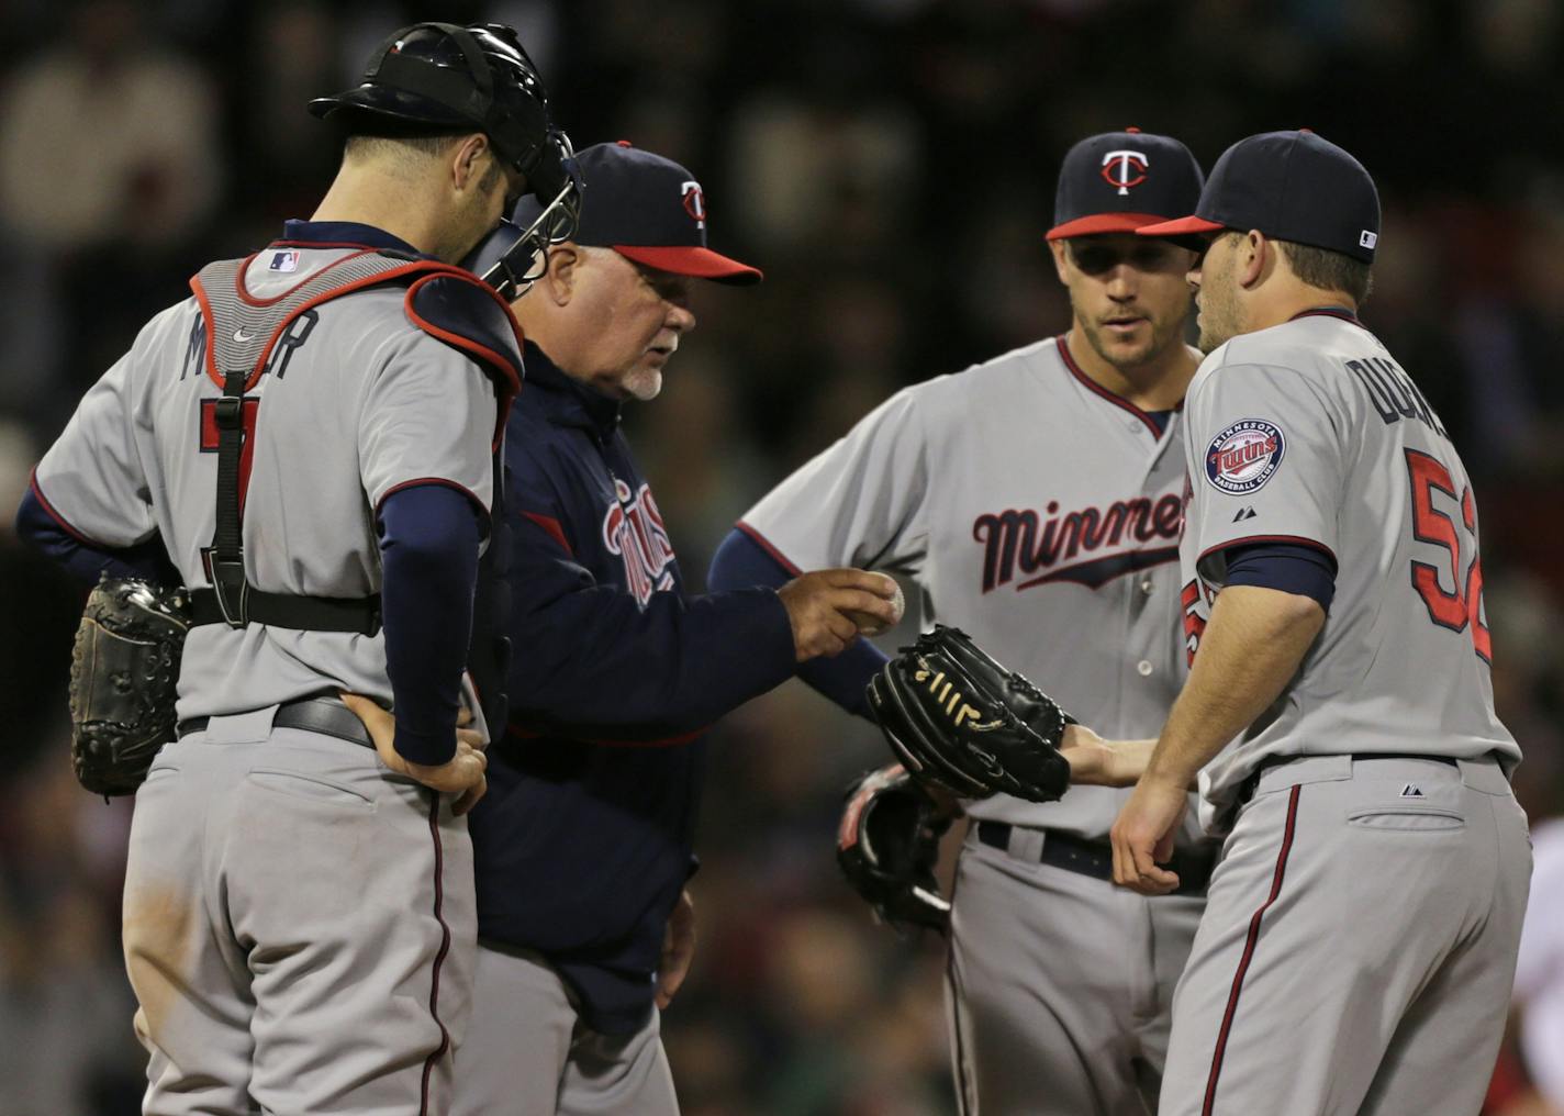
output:
<instances>
[{"instance_id":1,"label":"gray jersey with red number 52 on the back","mask_svg":"<svg viewBox=\"0 0 1564 1116\"><path fill-rule=\"evenodd\" d=\"M1336 563L1325 629L1278 715L1201 773L1206 820L1272 756L1475 759L1520 750L1494 714L1476 504L1439 416L1350 316L1309 313L1237 337L1186 402L1181 545L1190 656L1223 548L1315 546Z\"/></svg>"}]
</instances>

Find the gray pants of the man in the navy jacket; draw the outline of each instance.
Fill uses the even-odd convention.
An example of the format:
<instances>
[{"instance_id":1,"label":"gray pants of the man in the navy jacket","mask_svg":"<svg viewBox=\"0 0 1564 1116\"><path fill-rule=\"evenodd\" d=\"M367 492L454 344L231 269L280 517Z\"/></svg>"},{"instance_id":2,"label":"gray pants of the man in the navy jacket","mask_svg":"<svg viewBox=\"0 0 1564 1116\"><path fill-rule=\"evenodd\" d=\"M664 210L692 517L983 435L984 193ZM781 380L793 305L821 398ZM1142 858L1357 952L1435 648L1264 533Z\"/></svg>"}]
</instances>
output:
<instances>
[{"instance_id":1,"label":"gray pants of the man in the navy jacket","mask_svg":"<svg viewBox=\"0 0 1564 1116\"><path fill-rule=\"evenodd\" d=\"M555 1113L679 1116L660 1016L633 1035L588 1030L576 994L540 955L480 945L454 1116Z\"/></svg>"}]
</instances>

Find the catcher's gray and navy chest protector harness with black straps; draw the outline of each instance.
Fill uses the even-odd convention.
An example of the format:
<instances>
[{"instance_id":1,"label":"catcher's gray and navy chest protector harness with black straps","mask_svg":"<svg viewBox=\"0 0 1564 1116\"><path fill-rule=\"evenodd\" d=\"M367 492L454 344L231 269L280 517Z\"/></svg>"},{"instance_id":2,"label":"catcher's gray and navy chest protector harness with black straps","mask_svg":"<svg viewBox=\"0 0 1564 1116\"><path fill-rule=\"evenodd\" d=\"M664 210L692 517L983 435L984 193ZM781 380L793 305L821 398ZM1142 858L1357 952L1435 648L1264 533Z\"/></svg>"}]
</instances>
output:
<instances>
[{"instance_id":1,"label":"catcher's gray and navy chest protector harness with black straps","mask_svg":"<svg viewBox=\"0 0 1564 1116\"><path fill-rule=\"evenodd\" d=\"M479 563L477 609L472 623L469 671L494 731L505 723L504 679L510 665L505 637L508 595L502 584L508 563L508 526L504 515L500 438L510 404L521 388L521 327L510 307L472 274L433 260L371 250L344 255L302 279L278 297L256 299L244 286L255 257L219 260L191 279L206 326L206 374L222 388L216 404L217 488L216 532L210 551L211 589L191 590L194 625L252 623L322 632L380 631L380 595L360 598L297 596L255 589L244 571L241 459L244 452L244 393L266 371L272 351L294 318L332 299L372 286L405 286L411 322L430 337L472 358L494 382L499 399L491 445L494 501L490 546ZM258 405L252 399L252 405ZM252 426L252 429L255 429Z\"/></svg>"}]
</instances>

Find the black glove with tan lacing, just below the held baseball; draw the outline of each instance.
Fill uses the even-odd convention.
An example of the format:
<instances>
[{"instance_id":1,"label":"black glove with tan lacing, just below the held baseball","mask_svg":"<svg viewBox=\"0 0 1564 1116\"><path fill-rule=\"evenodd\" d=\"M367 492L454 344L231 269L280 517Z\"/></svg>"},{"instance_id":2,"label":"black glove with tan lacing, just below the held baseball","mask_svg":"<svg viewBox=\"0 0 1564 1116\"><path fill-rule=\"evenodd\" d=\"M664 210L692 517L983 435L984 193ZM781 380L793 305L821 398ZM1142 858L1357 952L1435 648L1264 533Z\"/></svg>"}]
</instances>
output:
<instances>
[{"instance_id":1,"label":"black glove with tan lacing, just below the held baseball","mask_svg":"<svg viewBox=\"0 0 1564 1116\"><path fill-rule=\"evenodd\" d=\"M959 798L1053 801L1070 787L1059 742L1074 718L959 628L937 625L904 646L868 701L907 772Z\"/></svg>"}]
</instances>

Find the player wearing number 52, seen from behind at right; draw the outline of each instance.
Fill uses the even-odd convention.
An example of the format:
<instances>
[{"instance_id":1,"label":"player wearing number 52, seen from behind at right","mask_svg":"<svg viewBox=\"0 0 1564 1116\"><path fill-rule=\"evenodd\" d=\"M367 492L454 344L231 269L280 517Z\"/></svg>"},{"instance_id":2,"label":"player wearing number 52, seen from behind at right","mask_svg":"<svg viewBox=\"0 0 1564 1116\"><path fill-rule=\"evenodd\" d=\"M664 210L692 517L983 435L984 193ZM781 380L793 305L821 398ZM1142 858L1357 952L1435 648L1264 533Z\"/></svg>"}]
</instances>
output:
<instances>
[{"instance_id":1,"label":"player wearing number 52, seen from behind at right","mask_svg":"<svg viewBox=\"0 0 1564 1116\"><path fill-rule=\"evenodd\" d=\"M1140 230L1211 238L1190 272L1192 670L1112 833L1118 883L1176 887L1159 862L1198 772L1226 834L1160 1111L1476 1113L1531 853L1472 484L1358 321L1379 236L1358 160L1251 136L1195 214Z\"/></svg>"}]
</instances>

